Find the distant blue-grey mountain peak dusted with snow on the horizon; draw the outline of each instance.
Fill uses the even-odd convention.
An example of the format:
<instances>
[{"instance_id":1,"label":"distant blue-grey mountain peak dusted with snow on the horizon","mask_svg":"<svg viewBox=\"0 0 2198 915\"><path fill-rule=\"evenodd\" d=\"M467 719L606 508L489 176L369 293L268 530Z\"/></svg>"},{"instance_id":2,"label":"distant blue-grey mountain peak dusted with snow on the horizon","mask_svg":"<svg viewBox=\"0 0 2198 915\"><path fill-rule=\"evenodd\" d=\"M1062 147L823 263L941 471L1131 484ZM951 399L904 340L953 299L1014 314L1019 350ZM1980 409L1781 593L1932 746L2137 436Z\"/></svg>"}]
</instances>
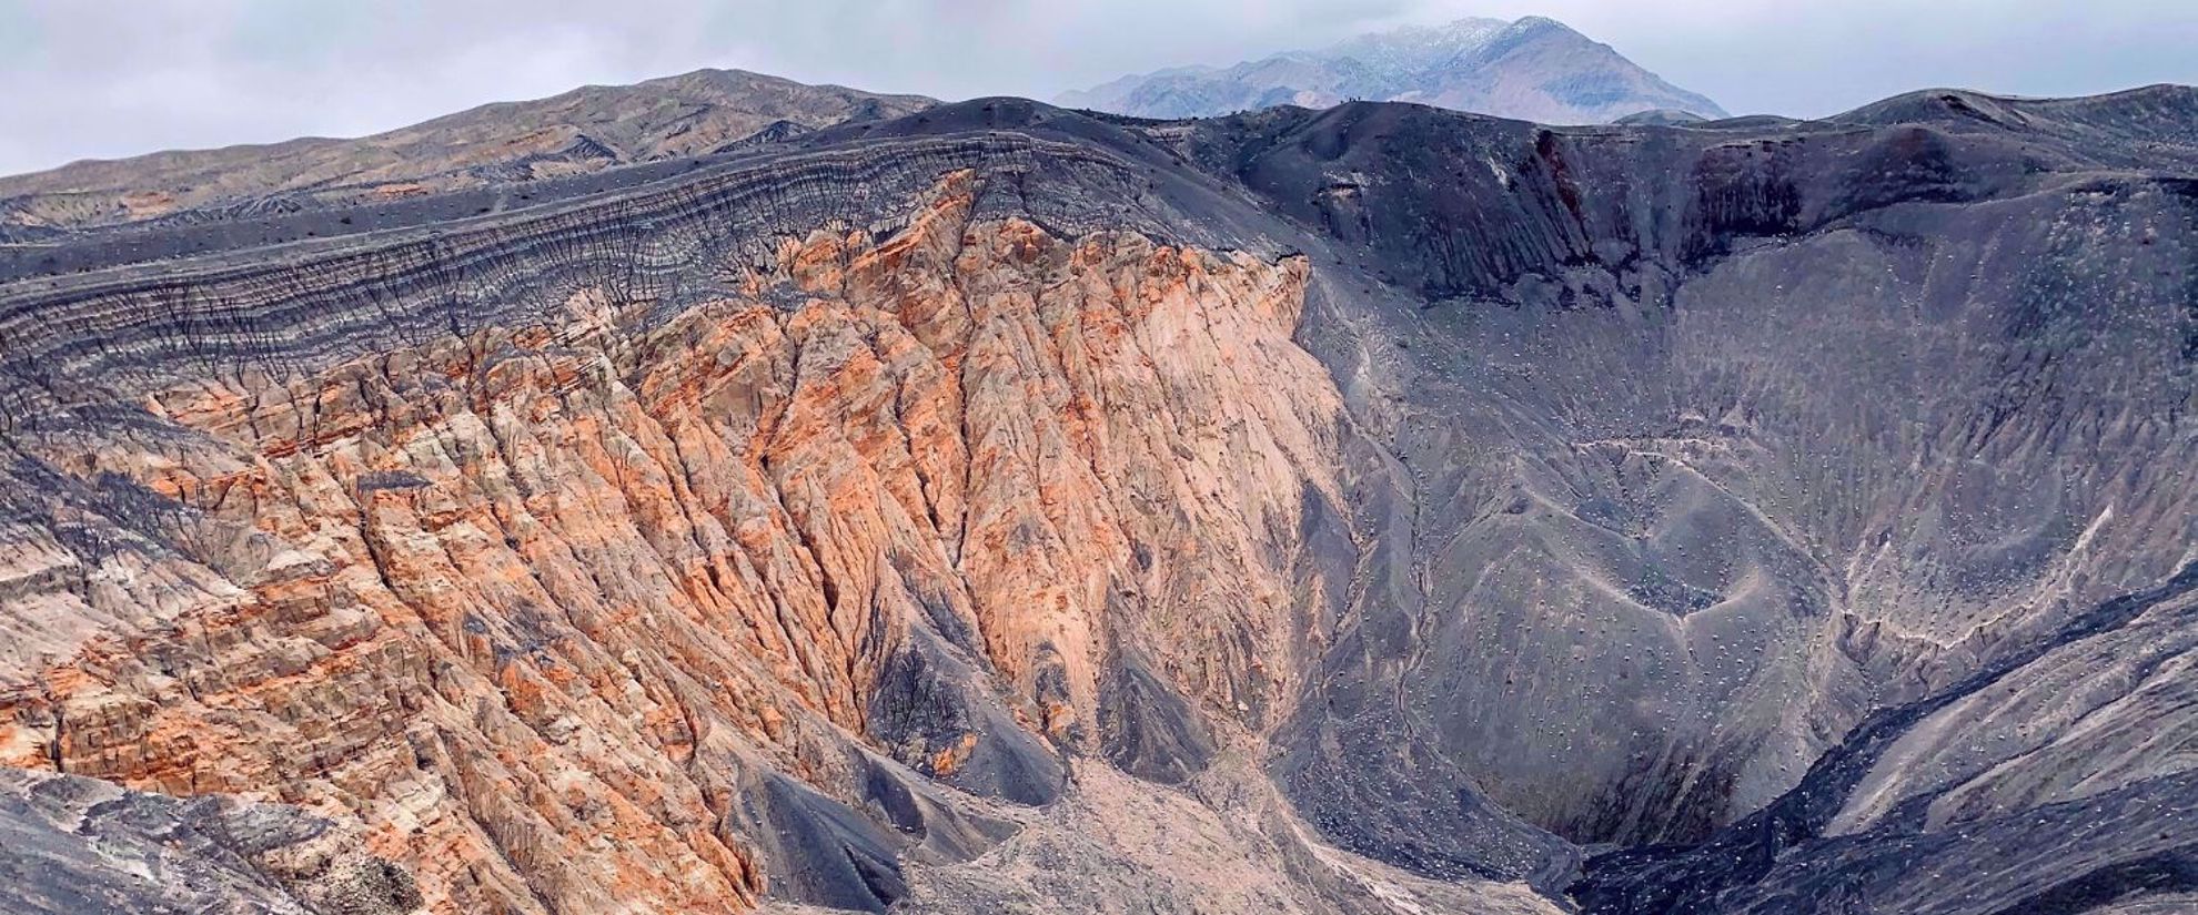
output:
<instances>
[{"instance_id":1,"label":"distant blue-grey mountain peak dusted with snow on the horizon","mask_svg":"<svg viewBox=\"0 0 2198 915\"><path fill-rule=\"evenodd\" d=\"M1194 118L1273 105L1328 108L1352 99L1418 101L1541 123L1609 123L1651 110L1725 116L1714 101L1666 83L1609 44L1541 15L1396 29L1231 68L1156 70L1062 94L1059 103Z\"/></svg>"}]
</instances>

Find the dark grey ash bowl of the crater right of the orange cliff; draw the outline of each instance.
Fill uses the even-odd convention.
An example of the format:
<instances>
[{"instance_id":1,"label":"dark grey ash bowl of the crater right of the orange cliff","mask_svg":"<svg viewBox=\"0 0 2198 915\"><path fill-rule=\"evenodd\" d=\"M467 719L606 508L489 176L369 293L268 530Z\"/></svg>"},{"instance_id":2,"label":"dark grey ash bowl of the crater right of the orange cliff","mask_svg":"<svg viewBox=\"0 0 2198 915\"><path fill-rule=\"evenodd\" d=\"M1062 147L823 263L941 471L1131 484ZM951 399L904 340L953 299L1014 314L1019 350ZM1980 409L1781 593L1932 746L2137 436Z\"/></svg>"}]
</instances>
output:
<instances>
[{"instance_id":1,"label":"dark grey ash bowl of the crater right of the orange cliff","mask_svg":"<svg viewBox=\"0 0 2198 915\"><path fill-rule=\"evenodd\" d=\"M1301 803L1418 797L1442 759L1576 840L1703 838L1870 709L2172 575L2189 147L2147 149L2163 125L2117 105L2057 105L2092 125L2066 140L1389 105L1191 134L1422 298L1378 344L1312 336L1420 496L1284 731Z\"/></svg>"}]
</instances>

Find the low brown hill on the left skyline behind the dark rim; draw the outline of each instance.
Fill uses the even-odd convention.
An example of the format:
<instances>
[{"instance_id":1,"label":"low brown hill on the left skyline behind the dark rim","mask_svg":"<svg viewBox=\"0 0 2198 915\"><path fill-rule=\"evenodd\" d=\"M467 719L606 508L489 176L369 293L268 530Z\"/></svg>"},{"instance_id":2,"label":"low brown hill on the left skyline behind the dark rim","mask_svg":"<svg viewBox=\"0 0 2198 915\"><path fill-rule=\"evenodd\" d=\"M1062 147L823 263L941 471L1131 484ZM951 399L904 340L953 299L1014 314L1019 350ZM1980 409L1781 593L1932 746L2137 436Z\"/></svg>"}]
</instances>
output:
<instances>
[{"instance_id":1,"label":"low brown hill on the left skyline behind the dark rim","mask_svg":"<svg viewBox=\"0 0 2198 915\"><path fill-rule=\"evenodd\" d=\"M892 118L934 99L695 70L506 101L365 138L160 151L0 178L0 239L178 211L356 204L613 165L701 156L842 121Z\"/></svg>"}]
</instances>

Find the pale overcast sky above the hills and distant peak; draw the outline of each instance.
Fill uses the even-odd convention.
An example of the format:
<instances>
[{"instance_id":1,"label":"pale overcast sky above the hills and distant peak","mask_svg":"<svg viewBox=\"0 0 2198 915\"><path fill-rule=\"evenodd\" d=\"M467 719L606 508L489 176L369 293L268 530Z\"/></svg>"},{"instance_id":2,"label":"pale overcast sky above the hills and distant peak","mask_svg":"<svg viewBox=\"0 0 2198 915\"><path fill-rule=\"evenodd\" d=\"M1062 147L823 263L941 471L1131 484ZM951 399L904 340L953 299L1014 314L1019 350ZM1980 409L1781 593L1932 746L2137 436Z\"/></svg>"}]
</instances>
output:
<instances>
[{"instance_id":1,"label":"pale overcast sky above the hills and distant peak","mask_svg":"<svg viewBox=\"0 0 2198 915\"><path fill-rule=\"evenodd\" d=\"M1552 15L1736 114L2198 83L2198 0L0 0L0 173L703 66L941 99Z\"/></svg>"}]
</instances>

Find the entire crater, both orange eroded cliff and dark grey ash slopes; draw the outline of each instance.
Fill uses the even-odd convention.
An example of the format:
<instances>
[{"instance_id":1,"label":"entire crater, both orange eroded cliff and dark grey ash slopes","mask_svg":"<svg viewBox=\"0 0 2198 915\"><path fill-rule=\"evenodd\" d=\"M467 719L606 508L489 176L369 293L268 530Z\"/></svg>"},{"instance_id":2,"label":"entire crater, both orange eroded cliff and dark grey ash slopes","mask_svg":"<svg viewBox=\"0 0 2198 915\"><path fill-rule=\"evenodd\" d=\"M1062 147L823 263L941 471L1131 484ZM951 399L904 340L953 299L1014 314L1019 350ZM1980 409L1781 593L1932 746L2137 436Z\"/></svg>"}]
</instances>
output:
<instances>
[{"instance_id":1,"label":"entire crater, both orange eroded cliff and dark grey ash slopes","mask_svg":"<svg viewBox=\"0 0 2198 915\"><path fill-rule=\"evenodd\" d=\"M543 189L9 266L0 764L435 911L2198 895L2198 90Z\"/></svg>"}]
</instances>

